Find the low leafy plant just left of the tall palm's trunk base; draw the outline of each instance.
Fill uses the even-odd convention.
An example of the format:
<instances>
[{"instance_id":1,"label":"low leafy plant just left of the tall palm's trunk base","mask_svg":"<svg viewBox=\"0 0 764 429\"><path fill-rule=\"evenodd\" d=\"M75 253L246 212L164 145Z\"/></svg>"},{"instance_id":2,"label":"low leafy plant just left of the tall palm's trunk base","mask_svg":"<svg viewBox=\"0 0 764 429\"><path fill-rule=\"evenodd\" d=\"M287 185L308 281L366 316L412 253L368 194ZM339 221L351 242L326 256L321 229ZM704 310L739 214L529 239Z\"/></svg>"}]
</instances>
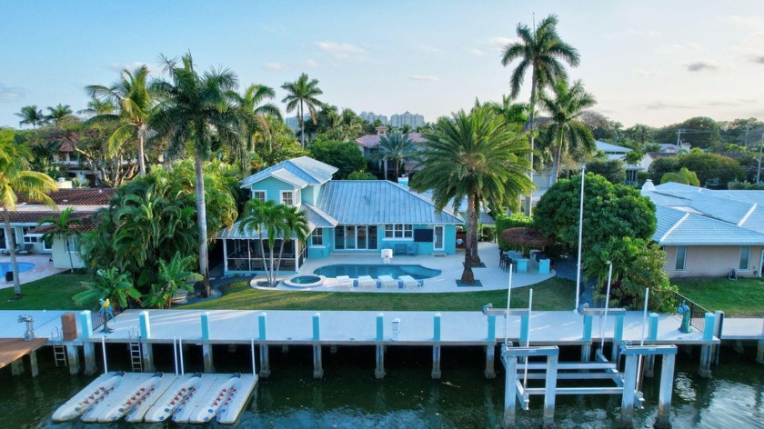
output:
<instances>
[{"instance_id":1,"label":"low leafy plant just left of the tall palm's trunk base","mask_svg":"<svg viewBox=\"0 0 764 429\"><path fill-rule=\"evenodd\" d=\"M194 264L194 256L188 254L173 255L170 262L159 260L158 282L151 284L151 292L144 295L141 304L150 308L170 308L173 304L173 295L179 290L194 291L194 285L188 280L202 280L202 276L188 271L188 267Z\"/></svg>"}]
</instances>

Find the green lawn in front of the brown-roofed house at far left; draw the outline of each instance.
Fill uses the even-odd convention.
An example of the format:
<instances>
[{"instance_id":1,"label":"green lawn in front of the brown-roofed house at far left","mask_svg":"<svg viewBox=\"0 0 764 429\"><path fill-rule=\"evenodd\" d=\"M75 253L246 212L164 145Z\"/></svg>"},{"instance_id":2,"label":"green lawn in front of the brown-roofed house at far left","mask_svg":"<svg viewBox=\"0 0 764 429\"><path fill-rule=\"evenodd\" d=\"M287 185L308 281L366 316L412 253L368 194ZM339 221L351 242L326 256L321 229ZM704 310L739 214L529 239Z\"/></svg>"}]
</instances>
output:
<instances>
[{"instance_id":1,"label":"green lawn in front of the brown-roofed house at far left","mask_svg":"<svg viewBox=\"0 0 764 429\"><path fill-rule=\"evenodd\" d=\"M80 282L91 281L87 274L55 274L22 284L24 298L16 301L14 288L0 289L0 310L84 310L72 296L82 292Z\"/></svg>"}]
</instances>

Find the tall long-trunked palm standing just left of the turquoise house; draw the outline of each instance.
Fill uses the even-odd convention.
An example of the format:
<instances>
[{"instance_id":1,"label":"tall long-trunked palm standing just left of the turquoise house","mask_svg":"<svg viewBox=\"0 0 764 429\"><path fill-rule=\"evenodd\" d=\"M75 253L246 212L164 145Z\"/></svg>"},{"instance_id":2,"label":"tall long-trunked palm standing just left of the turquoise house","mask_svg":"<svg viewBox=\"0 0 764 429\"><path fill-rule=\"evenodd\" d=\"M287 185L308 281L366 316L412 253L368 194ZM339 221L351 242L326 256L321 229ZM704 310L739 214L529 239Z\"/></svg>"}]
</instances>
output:
<instances>
[{"instance_id":1,"label":"tall long-trunked palm standing just left of the turquoise house","mask_svg":"<svg viewBox=\"0 0 764 429\"><path fill-rule=\"evenodd\" d=\"M205 294L209 289L209 258L203 162L210 155L213 131L216 139L234 145L239 129L231 93L238 80L228 69L211 69L200 75L194 68L191 54L175 59L163 58L170 81L152 85L161 99L152 116L152 124L160 135L166 135L170 152L183 154L186 145L194 147L196 174L196 219L199 228L199 274L204 276Z\"/></svg>"}]
</instances>

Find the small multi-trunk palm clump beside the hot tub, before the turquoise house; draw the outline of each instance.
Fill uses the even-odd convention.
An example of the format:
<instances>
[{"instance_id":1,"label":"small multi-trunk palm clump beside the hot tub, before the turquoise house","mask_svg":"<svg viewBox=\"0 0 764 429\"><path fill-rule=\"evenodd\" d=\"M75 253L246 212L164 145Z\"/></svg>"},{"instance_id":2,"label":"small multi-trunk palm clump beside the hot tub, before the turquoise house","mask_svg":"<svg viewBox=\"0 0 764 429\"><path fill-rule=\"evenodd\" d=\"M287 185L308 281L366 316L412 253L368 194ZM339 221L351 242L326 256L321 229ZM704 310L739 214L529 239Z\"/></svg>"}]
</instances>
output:
<instances>
[{"instance_id":1,"label":"small multi-trunk palm clump beside the hot tub, before the turquoise house","mask_svg":"<svg viewBox=\"0 0 764 429\"><path fill-rule=\"evenodd\" d=\"M263 267L266 270L266 282L268 285L276 284L278 267L281 265L281 256L285 242L294 238L305 241L309 233L307 214L297 211L295 206L278 205L272 200L262 202L250 200L244 206L239 217L239 231L256 233L260 242L260 254L263 258ZM274 261L276 239L279 240L277 260ZM265 243L268 244L268 260L266 261Z\"/></svg>"}]
</instances>

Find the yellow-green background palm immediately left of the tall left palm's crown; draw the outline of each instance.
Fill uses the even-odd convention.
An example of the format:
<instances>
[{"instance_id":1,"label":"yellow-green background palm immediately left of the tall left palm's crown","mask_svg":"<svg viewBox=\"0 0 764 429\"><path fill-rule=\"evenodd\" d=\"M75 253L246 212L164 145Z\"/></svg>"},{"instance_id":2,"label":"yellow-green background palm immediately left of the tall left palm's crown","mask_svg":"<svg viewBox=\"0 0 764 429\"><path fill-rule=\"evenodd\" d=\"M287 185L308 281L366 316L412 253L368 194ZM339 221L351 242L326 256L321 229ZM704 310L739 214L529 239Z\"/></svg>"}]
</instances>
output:
<instances>
[{"instance_id":1,"label":"yellow-green background palm immediately left of the tall left palm's crown","mask_svg":"<svg viewBox=\"0 0 764 429\"><path fill-rule=\"evenodd\" d=\"M122 69L119 81L110 86L87 85L85 91L92 97L118 105L117 113L95 115L90 122L119 121L122 123L106 141L108 152L116 146L136 139L138 141L138 168L146 175L146 127L154 108L154 95L149 87L148 67L140 65L135 70Z\"/></svg>"}]
</instances>

